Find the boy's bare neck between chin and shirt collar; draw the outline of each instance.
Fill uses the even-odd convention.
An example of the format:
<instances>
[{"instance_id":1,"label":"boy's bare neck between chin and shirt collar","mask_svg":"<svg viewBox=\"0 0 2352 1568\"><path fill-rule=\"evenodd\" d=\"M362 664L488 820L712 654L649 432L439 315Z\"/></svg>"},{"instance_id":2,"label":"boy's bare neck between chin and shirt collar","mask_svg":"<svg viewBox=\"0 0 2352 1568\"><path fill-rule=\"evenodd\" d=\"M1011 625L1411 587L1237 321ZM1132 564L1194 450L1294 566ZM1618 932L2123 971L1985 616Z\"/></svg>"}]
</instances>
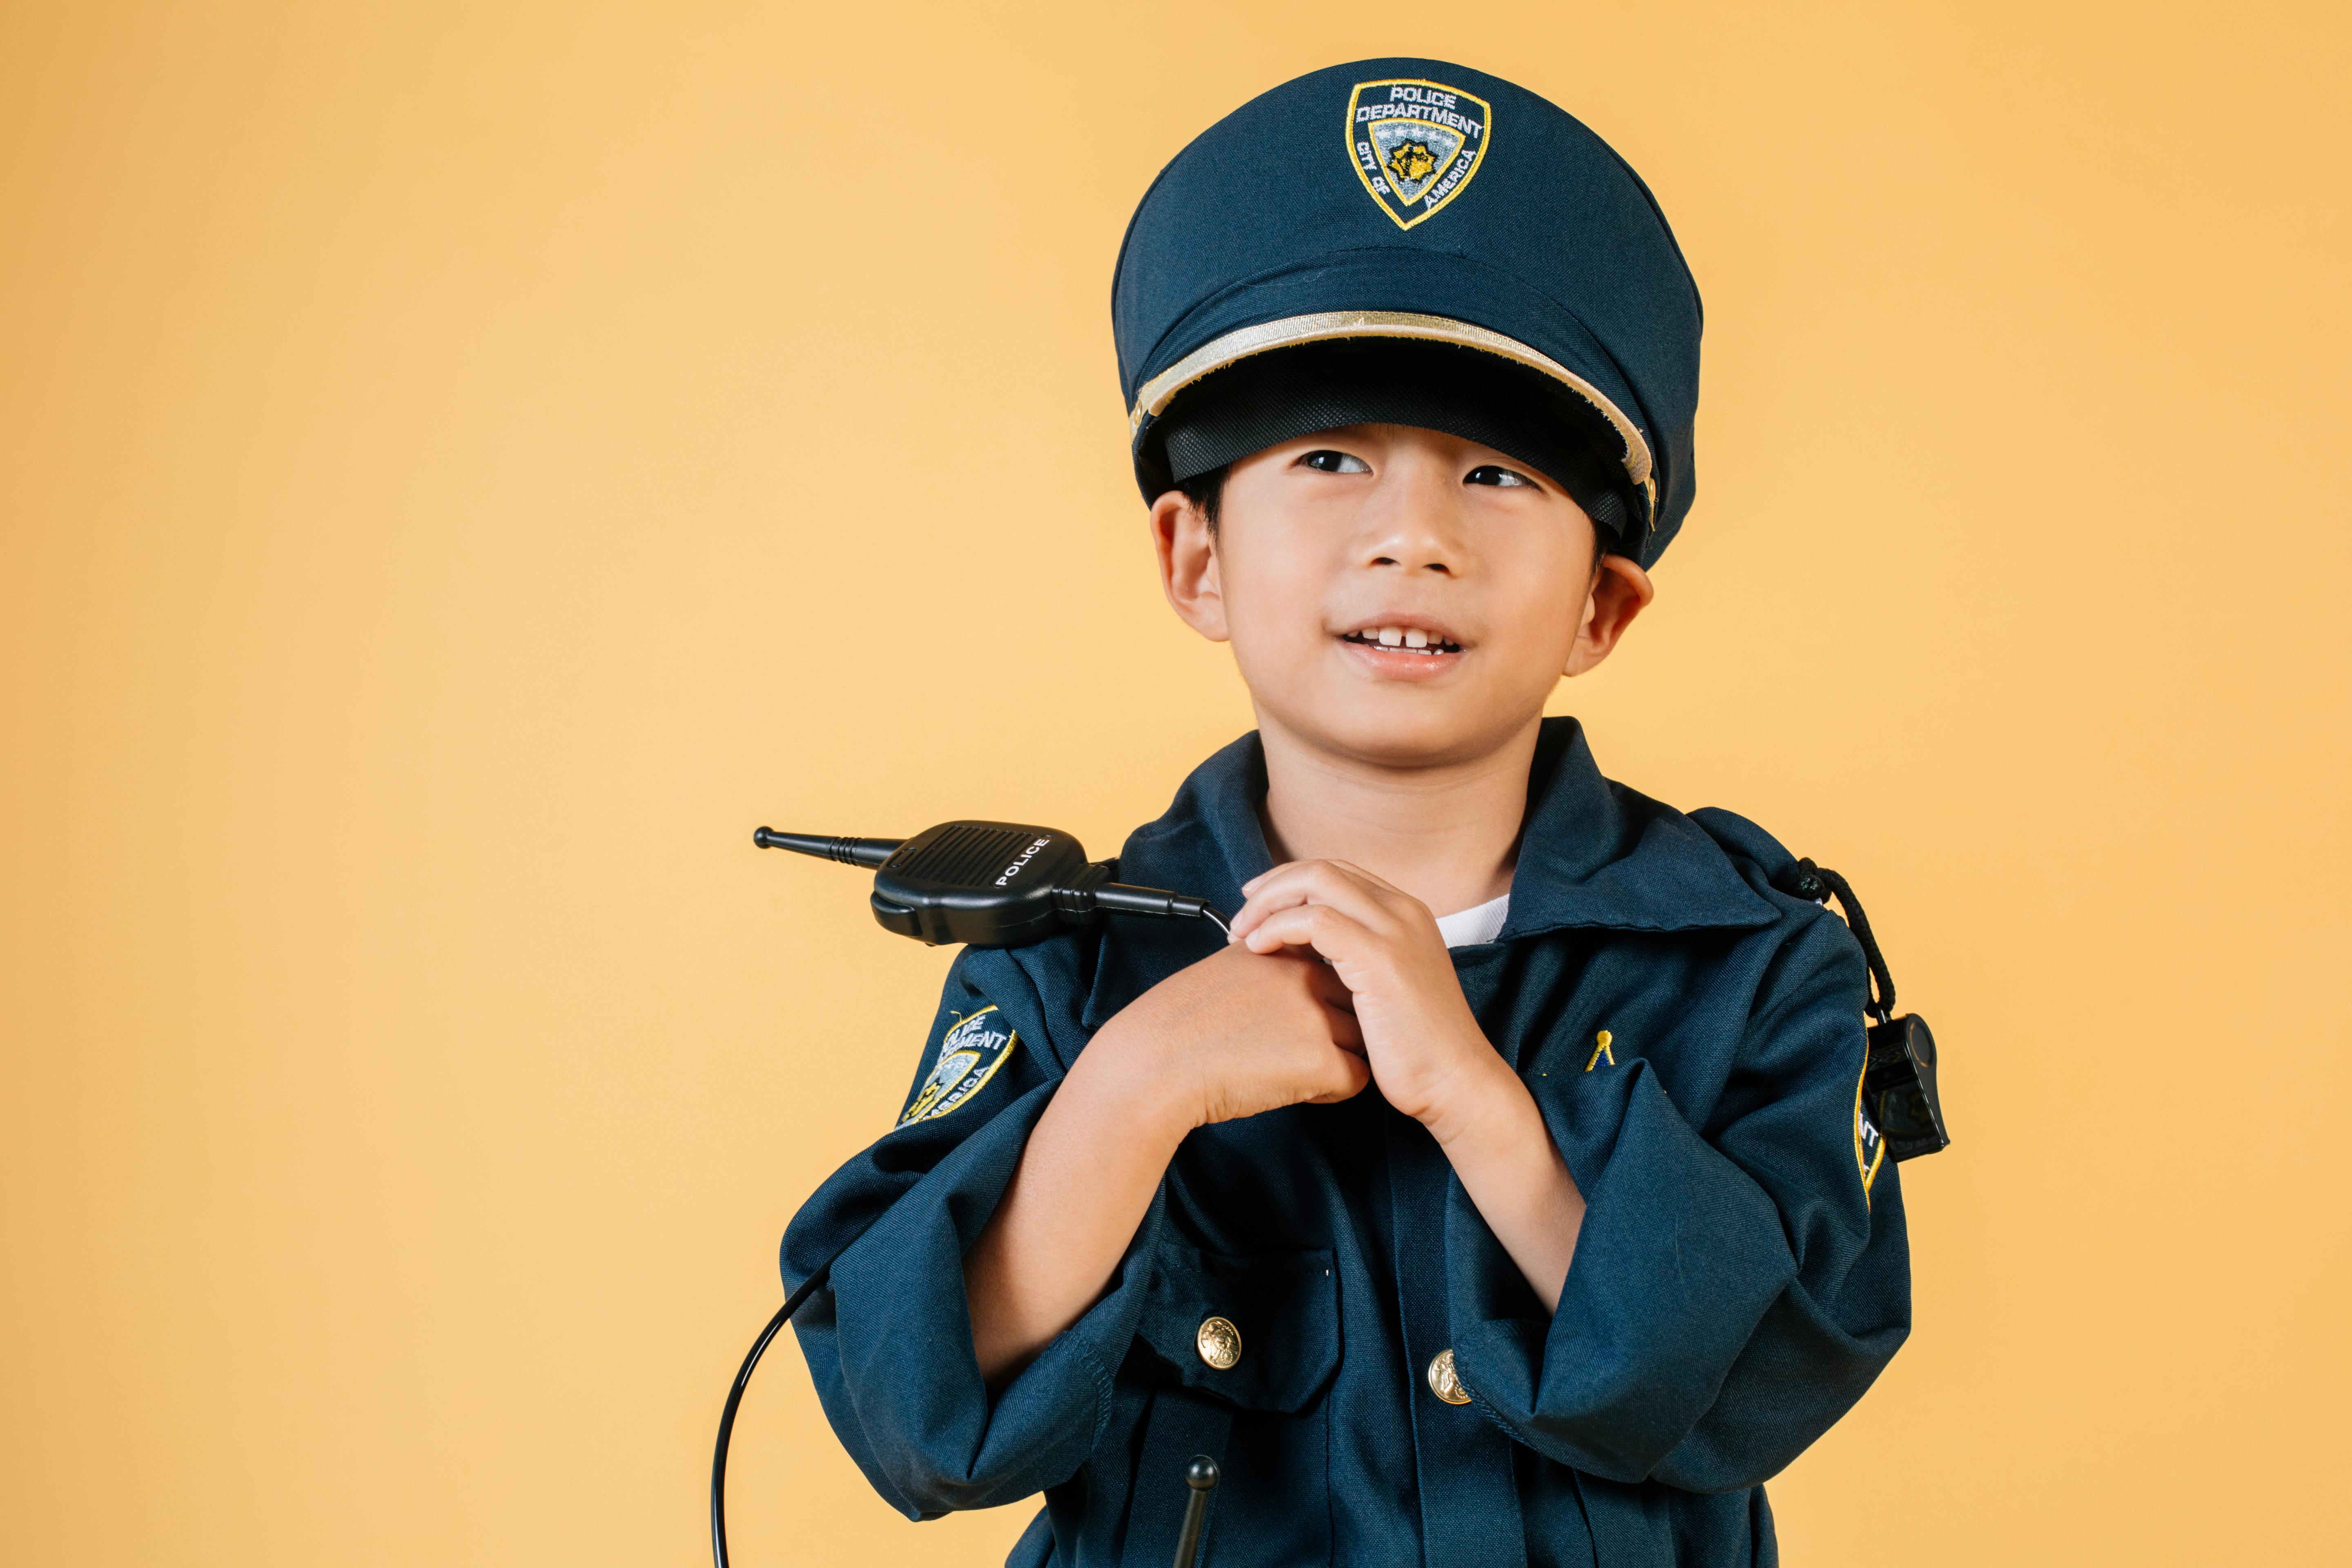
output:
<instances>
[{"instance_id":1,"label":"boy's bare neck between chin and shirt collar","mask_svg":"<svg viewBox=\"0 0 2352 1568\"><path fill-rule=\"evenodd\" d=\"M1348 860L1432 914L1510 891L1541 715L1470 762L1399 769L1329 750L1258 715L1265 846L1275 863Z\"/></svg>"}]
</instances>

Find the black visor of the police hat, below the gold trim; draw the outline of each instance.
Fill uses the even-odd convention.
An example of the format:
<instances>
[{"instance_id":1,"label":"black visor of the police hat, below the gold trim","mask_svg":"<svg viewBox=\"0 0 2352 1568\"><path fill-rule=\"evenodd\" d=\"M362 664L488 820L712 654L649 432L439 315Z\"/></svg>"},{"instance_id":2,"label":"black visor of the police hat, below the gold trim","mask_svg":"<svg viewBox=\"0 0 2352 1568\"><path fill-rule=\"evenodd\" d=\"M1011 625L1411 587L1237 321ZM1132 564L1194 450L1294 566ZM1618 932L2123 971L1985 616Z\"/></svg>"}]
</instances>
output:
<instances>
[{"instance_id":1,"label":"black visor of the police hat, below the gold trim","mask_svg":"<svg viewBox=\"0 0 2352 1568\"><path fill-rule=\"evenodd\" d=\"M1569 491L1613 552L1628 552L1642 515L1623 440L1599 409L1524 364L1411 339L1303 343L1228 364L1152 421L1136 468L1167 491L1341 425L1416 425L1494 447Z\"/></svg>"}]
</instances>

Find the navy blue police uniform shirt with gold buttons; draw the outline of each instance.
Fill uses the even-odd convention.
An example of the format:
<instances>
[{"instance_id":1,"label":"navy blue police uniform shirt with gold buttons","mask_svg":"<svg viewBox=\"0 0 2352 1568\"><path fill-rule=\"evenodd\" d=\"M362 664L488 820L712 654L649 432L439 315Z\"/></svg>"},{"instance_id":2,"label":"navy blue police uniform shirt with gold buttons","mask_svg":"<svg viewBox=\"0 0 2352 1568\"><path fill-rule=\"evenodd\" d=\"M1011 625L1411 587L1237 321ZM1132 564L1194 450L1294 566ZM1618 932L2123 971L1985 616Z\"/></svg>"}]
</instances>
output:
<instances>
[{"instance_id":1,"label":"navy blue police uniform shirt with gold buttons","mask_svg":"<svg viewBox=\"0 0 2352 1568\"><path fill-rule=\"evenodd\" d=\"M1240 907L1263 795L1244 736L1117 875ZM898 1126L783 1239L793 1284L863 1229L793 1324L833 1429L913 1519L1042 1490L1016 1566L1160 1568L1195 1453L1225 1474L1211 1568L1773 1563L1762 1481L1910 1328L1863 954L1771 889L1788 863L1545 719L1510 917L1454 966L1588 1204L1559 1309L1374 1086L1190 1133L1110 1291L993 1399L964 1251L1094 1030L1216 933L967 950Z\"/></svg>"}]
</instances>

